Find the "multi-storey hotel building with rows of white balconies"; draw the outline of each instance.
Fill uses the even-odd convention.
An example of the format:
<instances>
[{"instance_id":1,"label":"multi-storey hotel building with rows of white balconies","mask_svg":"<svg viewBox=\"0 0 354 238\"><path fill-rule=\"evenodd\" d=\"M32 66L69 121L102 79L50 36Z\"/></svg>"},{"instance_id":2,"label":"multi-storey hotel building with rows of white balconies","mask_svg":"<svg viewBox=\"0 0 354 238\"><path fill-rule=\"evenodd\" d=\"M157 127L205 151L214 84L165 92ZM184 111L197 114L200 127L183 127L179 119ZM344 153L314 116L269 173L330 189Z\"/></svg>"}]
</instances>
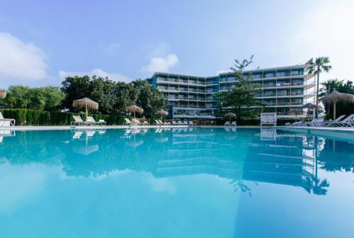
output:
<instances>
[{"instance_id":1,"label":"multi-storey hotel building with rows of white balconies","mask_svg":"<svg viewBox=\"0 0 354 238\"><path fill-rule=\"evenodd\" d=\"M304 118L306 112L296 108L314 102L315 81L307 74L310 61L287 67L247 70L252 84L261 92L256 98L265 105L263 112L277 113L279 118ZM219 111L217 92L234 88L236 79L232 73L214 77L156 72L147 79L169 100L169 118L213 119ZM256 108L253 106L252 108Z\"/></svg>"}]
</instances>

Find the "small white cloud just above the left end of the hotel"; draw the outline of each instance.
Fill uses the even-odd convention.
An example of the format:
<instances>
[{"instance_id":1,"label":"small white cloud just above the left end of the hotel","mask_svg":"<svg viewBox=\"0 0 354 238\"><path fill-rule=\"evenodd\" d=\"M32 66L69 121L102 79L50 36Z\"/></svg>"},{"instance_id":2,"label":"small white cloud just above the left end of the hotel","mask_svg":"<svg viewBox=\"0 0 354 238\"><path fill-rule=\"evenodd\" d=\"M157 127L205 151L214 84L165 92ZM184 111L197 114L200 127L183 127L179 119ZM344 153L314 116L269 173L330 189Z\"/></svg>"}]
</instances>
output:
<instances>
[{"instance_id":1,"label":"small white cloud just above the left end of the hotel","mask_svg":"<svg viewBox=\"0 0 354 238\"><path fill-rule=\"evenodd\" d=\"M142 67L142 71L149 74L154 74L154 72L169 72L177 64L178 57L175 54L169 54L166 57L153 57L149 64Z\"/></svg>"}]
</instances>

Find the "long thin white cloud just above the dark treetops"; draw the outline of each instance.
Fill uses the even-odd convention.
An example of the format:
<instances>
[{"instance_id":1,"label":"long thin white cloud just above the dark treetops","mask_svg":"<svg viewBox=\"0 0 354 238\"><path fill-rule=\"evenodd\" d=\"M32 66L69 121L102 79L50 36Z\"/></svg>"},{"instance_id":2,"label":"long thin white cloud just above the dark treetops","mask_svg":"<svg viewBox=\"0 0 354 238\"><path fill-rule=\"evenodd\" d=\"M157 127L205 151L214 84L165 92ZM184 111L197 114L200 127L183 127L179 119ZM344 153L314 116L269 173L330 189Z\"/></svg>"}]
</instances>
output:
<instances>
[{"instance_id":1,"label":"long thin white cloud just above the dark treetops","mask_svg":"<svg viewBox=\"0 0 354 238\"><path fill-rule=\"evenodd\" d=\"M93 75L96 75L98 77L108 77L110 80L113 81L125 81L125 82L130 82L132 79L130 77L127 77L122 74L116 74L116 73L108 73L103 71L102 69L92 69L90 72L67 72L67 71L59 71L59 78L60 79L65 79L66 77L74 77L74 76L84 76L88 75L89 77L92 77Z\"/></svg>"}]
</instances>

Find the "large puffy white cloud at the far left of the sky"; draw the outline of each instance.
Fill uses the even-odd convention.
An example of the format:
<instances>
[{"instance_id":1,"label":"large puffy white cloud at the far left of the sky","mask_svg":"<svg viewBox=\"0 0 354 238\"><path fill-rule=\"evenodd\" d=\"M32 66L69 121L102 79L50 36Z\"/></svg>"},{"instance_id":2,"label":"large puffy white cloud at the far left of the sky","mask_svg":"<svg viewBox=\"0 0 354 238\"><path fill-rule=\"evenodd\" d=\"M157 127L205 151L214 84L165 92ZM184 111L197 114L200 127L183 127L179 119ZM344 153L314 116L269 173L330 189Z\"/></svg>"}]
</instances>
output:
<instances>
[{"instance_id":1,"label":"large puffy white cloud at the far left of the sky","mask_svg":"<svg viewBox=\"0 0 354 238\"><path fill-rule=\"evenodd\" d=\"M40 48L0 32L0 81L38 81L47 77L46 69Z\"/></svg>"}]
</instances>

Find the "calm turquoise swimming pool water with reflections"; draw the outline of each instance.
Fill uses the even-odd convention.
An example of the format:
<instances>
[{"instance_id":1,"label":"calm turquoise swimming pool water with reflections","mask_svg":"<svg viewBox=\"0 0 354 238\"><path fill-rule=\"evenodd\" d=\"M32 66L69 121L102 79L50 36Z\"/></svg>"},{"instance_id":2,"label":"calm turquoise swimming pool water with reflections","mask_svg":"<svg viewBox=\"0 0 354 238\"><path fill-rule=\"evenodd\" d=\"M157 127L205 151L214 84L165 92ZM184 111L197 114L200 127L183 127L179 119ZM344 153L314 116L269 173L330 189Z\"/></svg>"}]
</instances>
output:
<instances>
[{"instance_id":1,"label":"calm turquoise swimming pool water with reflections","mask_svg":"<svg viewBox=\"0 0 354 238\"><path fill-rule=\"evenodd\" d=\"M273 129L2 132L0 237L354 237L354 145Z\"/></svg>"}]
</instances>

